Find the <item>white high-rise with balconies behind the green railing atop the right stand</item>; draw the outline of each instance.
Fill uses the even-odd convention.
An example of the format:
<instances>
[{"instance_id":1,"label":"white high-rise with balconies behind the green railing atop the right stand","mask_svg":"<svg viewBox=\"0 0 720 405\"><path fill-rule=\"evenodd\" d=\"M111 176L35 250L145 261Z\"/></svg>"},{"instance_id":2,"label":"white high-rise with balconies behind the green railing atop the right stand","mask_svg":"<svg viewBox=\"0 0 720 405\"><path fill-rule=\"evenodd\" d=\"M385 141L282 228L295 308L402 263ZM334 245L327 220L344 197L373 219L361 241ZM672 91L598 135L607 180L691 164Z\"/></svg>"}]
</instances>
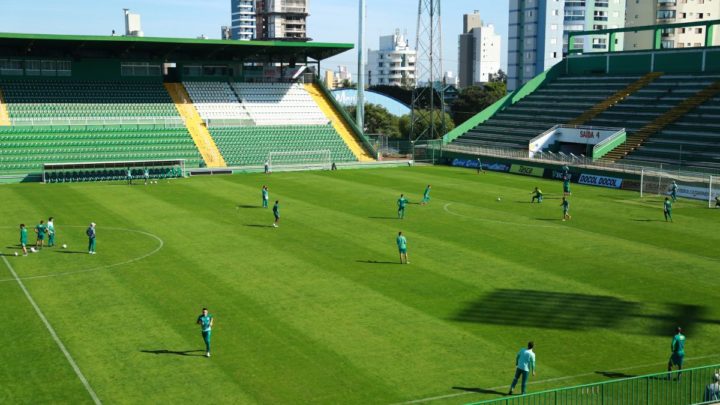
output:
<instances>
[{"instance_id":1,"label":"white high-rise with balconies behind the green railing atop the right stand","mask_svg":"<svg viewBox=\"0 0 720 405\"><path fill-rule=\"evenodd\" d=\"M565 0L565 24L563 52L568 51L568 33L570 31L592 31L625 26L626 0ZM634 2L635 0L628 0ZM642 0L650 3L658 0ZM659 0L663 1L663 0ZM673 0L674 1L674 0ZM606 52L610 50L608 35L588 35L574 38L573 49L583 52ZM623 49L623 34L615 37L615 50Z\"/></svg>"}]
</instances>

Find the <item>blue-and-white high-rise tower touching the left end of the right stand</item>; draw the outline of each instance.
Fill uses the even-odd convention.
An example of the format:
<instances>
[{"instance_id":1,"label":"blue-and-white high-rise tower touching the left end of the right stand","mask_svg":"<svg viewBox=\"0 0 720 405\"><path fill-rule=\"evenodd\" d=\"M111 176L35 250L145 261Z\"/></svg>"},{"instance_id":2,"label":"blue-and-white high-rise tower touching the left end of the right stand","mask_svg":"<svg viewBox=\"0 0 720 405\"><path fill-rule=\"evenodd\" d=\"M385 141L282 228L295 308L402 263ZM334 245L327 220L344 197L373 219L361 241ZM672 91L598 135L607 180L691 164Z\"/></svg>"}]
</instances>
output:
<instances>
[{"instance_id":1,"label":"blue-and-white high-rise tower touching the left end of the right stand","mask_svg":"<svg viewBox=\"0 0 720 405\"><path fill-rule=\"evenodd\" d=\"M564 10L565 0L510 0L508 90L562 60Z\"/></svg>"}]
</instances>

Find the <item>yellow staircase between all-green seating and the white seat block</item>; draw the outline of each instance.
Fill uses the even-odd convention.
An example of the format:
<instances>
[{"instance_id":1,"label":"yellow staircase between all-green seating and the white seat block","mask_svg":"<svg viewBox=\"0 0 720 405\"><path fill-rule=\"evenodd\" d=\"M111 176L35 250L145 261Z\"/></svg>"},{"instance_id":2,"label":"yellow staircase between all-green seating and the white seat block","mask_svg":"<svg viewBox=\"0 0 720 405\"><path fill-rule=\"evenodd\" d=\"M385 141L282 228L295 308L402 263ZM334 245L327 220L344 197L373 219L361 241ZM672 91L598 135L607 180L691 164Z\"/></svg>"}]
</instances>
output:
<instances>
[{"instance_id":1,"label":"yellow staircase between all-green seating and the white seat block","mask_svg":"<svg viewBox=\"0 0 720 405\"><path fill-rule=\"evenodd\" d=\"M167 89L168 94L175 103L175 108L177 108L180 116L185 119L185 126L207 167L227 167L225 159L220 154L220 150L215 145L212 136L210 136L210 131L208 131L205 122L203 122L200 114L195 109L182 83L165 83L165 89Z\"/></svg>"}]
</instances>

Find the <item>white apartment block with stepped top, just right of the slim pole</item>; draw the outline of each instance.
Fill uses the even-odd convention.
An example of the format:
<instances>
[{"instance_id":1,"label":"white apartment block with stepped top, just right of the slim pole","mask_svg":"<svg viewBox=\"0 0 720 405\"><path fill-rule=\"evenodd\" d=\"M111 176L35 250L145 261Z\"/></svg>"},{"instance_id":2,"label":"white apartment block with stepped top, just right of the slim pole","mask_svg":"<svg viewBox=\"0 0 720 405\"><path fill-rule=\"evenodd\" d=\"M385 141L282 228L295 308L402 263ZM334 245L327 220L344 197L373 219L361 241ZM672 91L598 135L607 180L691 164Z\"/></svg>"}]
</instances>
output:
<instances>
[{"instance_id":1,"label":"white apartment block with stepped top, just right of the slim pole","mask_svg":"<svg viewBox=\"0 0 720 405\"><path fill-rule=\"evenodd\" d=\"M368 86L414 86L416 51L400 30L380 37L380 49L368 51Z\"/></svg>"}]
</instances>

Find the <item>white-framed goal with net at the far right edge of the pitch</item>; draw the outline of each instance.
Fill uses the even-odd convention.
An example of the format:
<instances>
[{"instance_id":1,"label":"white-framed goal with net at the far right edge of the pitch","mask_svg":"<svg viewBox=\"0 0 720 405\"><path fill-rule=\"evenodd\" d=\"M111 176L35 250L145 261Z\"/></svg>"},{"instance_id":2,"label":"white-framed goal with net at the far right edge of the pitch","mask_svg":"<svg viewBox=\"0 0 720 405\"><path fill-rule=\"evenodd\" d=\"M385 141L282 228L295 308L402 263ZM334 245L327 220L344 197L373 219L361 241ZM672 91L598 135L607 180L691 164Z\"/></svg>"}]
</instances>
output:
<instances>
[{"instance_id":1,"label":"white-framed goal with net at the far right edge of the pitch","mask_svg":"<svg viewBox=\"0 0 720 405\"><path fill-rule=\"evenodd\" d=\"M713 208L716 197L720 195L717 180L716 176L701 173L644 169L640 175L640 197L669 196L675 182L678 197L707 201L708 206Z\"/></svg>"}]
</instances>

